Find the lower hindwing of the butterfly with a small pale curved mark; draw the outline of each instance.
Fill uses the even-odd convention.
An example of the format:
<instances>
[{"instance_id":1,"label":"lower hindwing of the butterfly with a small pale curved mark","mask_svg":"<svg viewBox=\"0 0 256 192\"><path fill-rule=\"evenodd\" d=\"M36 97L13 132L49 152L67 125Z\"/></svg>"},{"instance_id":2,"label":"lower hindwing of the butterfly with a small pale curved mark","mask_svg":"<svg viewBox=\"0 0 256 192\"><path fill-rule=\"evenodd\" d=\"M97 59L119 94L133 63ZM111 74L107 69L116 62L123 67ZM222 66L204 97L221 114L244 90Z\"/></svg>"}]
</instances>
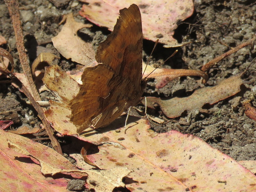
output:
<instances>
[{"instance_id":1,"label":"lower hindwing of the butterfly with a small pale curved mark","mask_svg":"<svg viewBox=\"0 0 256 192\"><path fill-rule=\"evenodd\" d=\"M129 80L104 64L86 68L81 79L83 85L70 101L70 120L77 126L78 133L91 125L103 127L118 118L130 97L127 90L134 89Z\"/></svg>"}]
</instances>

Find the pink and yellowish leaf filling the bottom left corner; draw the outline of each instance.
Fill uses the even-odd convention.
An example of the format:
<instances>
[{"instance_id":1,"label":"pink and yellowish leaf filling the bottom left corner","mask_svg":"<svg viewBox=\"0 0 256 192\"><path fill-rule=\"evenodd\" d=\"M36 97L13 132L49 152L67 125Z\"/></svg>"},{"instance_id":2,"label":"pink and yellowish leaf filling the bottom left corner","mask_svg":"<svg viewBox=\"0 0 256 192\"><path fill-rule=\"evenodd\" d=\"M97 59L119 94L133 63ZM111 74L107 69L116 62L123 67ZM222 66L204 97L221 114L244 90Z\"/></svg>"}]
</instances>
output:
<instances>
[{"instance_id":1,"label":"pink and yellowish leaf filling the bottom left corner","mask_svg":"<svg viewBox=\"0 0 256 192\"><path fill-rule=\"evenodd\" d=\"M8 148L7 140L25 147L34 157L44 159L45 162L55 167L76 169L65 157L47 146L13 133L0 130L0 140L1 191L68 191L66 189L68 179L43 176L38 161Z\"/></svg>"}]
</instances>

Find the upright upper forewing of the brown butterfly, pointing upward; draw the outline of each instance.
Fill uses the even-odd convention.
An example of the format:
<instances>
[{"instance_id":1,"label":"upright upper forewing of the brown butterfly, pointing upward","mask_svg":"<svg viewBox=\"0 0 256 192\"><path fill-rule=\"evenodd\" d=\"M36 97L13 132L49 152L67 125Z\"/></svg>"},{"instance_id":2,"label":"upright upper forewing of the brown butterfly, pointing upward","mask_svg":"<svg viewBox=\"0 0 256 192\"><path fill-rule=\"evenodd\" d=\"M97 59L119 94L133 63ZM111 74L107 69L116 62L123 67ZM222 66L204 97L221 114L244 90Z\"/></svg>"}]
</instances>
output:
<instances>
[{"instance_id":1,"label":"upright upper forewing of the brown butterfly, pointing upward","mask_svg":"<svg viewBox=\"0 0 256 192\"><path fill-rule=\"evenodd\" d=\"M98 63L129 79L137 92L141 90L142 40L140 9L132 4L120 10L113 33L99 45L95 56Z\"/></svg>"}]
</instances>

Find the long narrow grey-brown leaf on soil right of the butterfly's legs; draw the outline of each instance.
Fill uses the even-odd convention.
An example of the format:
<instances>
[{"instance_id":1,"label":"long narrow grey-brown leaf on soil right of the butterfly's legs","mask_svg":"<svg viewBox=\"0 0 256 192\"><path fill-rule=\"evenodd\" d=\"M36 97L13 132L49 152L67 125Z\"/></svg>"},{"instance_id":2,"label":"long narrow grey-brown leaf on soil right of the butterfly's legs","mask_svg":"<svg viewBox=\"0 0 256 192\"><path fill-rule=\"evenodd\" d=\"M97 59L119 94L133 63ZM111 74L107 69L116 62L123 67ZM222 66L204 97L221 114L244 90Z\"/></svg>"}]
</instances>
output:
<instances>
[{"instance_id":1,"label":"long narrow grey-brown leaf on soil right of the butterfly's legs","mask_svg":"<svg viewBox=\"0 0 256 192\"><path fill-rule=\"evenodd\" d=\"M243 80L239 76L232 76L214 87L198 89L189 97L175 97L169 100L147 97L147 107L154 108L154 104L157 103L167 117L174 118L180 116L185 110L189 113L193 109L201 108L206 103L212 105L231 97L240 91L241 84L243 84Z\"/></svg>"}]
</instances>

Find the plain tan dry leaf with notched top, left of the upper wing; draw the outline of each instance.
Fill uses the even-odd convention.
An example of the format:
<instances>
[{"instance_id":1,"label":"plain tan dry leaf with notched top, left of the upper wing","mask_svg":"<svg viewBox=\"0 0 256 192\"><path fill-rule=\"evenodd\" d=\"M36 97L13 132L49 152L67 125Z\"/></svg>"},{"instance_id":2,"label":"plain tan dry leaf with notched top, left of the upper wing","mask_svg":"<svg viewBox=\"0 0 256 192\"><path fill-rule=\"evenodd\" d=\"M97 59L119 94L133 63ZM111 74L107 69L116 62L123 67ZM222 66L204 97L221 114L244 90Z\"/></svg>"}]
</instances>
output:
<instances>
[{"instance_id":1,"label":"plain tan dry leaf with notched top, left of the upper wing","mask_svg":"<svg viewBox=\"0 0 256 192\"><path fill-rule=\"evenodd\" d=\"M60 33L52 38L54 47L61 55L81 65L89 65L95 59L92 44L83 41L77 34L78 30L91 27L89 24L75 22L72 14L66 15L66 23Z\"/></svg>"}]
</instances>

